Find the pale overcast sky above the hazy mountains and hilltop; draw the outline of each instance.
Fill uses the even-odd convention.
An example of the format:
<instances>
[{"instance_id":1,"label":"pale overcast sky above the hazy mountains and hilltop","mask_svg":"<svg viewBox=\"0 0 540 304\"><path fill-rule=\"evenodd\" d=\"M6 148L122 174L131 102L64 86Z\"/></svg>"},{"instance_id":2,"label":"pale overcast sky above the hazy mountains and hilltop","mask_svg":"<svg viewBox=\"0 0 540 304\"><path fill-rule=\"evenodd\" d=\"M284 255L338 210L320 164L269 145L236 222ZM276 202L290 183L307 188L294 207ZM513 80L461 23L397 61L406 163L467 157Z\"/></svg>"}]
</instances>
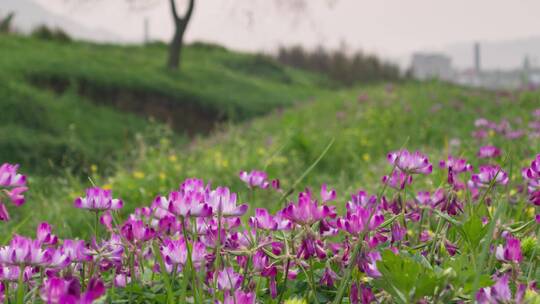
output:
<instances>
[{"instance_id":1,"label":"pale overcast sky above the hazy mountains and hilltop","mask_svg":"<svg viewBox=\"0 0 540 304\"><path fill-rule=\"evenodd\" d=\"M142 40L144 18L152 38L172 34L166 0L141 0L154 4L138 9L129 9L126 0L35 1L129 41ZM198 0L186 38L267 51L280 44L336 47L345 41L350 49L400 56L456 42L540 35L540 0L306 0L302 12L284 5L291 1L297 0Z\"/></svg>"}]
</instances>

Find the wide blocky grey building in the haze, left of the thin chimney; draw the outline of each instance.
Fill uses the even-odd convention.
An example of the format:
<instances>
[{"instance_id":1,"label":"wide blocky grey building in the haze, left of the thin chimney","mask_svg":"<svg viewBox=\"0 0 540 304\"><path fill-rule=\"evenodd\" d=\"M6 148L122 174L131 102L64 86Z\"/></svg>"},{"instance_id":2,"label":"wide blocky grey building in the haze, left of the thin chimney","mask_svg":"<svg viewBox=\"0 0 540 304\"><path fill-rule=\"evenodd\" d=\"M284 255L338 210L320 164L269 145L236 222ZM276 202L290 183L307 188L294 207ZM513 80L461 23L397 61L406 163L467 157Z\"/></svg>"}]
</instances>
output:
<instances>
[{"instance_id":1,"label":"wide blocky grey building in the haze, left of the thin chimney","mask_svg":"<svg viewBox=\"0 0 540 304\"><path fill-rule=\"evenodd\" d=\"M416 79L452 79L452 60L437 53L415 53L412 59L412 74Z\"/></svg>"}]
</instances>

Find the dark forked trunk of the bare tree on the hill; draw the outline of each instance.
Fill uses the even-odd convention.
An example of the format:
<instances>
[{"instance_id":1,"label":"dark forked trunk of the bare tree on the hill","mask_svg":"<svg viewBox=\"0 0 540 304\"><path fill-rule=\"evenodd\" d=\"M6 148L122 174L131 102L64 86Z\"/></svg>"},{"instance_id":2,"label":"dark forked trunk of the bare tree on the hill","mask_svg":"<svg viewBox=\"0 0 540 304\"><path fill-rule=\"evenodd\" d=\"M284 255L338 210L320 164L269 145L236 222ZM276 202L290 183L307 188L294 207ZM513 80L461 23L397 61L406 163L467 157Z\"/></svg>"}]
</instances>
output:
<instances>
[{"instance_id":1,"label":"dark forked trunk of the bare tree on the hill","mask_svg":"<svg viewBox=\"0 0 540 304\"><path fill-rule=\"evenodd\" d=\"M169 59L167 61L167 67L172 70L180 68L180 59L182 55L182 47L184 45L184 33L187 29L189 20L193 13L193 7L195 0L189 0L189 6L186 14L183 17L178 15L176 11L175 0L170 0L171 11L174 20L174 36L169 44Z\"/></svg>"}]
</instances>

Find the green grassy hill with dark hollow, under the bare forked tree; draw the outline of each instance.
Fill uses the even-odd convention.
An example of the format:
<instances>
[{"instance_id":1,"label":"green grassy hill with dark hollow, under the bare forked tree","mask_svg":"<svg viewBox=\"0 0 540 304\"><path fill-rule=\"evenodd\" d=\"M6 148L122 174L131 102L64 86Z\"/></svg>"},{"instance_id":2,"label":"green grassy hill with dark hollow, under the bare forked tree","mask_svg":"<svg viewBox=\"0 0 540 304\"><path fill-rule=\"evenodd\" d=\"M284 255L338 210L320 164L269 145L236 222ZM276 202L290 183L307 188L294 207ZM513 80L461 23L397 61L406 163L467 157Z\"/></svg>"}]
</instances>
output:
<instances>
[{"instance_id":1,"label":"green grassy hill with dark hollow, under the bare forked tree","mask_svg":"<svg viewBox=\"0 0 540 304\"><path fill-rule=\"evenodd\" d=\"M163 123L183 135L320 96L323 77L218 46L96 45L0 36L0 159L27 172L90 172L125 159L136 134ZM149 123L154 117L158 123ZM96 165L96 166L92 166Z\"/></svg>"}]
</instances>

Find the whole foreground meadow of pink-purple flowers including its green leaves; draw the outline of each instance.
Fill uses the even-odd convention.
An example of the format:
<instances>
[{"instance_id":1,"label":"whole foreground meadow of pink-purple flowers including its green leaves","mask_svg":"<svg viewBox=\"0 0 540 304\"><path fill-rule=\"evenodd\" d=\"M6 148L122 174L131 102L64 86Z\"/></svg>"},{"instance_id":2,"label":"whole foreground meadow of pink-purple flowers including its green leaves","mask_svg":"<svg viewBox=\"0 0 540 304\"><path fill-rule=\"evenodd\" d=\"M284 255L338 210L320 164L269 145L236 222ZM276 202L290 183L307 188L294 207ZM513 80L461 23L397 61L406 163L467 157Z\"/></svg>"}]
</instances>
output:
<instances>
[{"instance_id":1,"label":"whole foreground meadow of pink-purple flowers including its green leaves","mask_svg":"<svg viewBox=\"0 0 540 304\"><path fill-rule=\"evenodd\" d=\"M517 131L477 119L472 135L480 144L490 132L537 141L540 110L531 115ZM387 154L377 191L348 196L327 184L296 193L259 170L239 173L242 199L188 178L127 217L112 190L93 186L72 205L92 219L88 239L59 238L47 222L34 235L5 236L0 299L540 303L538 152L516 177L523 160L497 146L480 146L477 167L401 148ZM0 219L9 221L26 177L4 164L0 186Z\"/></svg>"}]
</instances>

